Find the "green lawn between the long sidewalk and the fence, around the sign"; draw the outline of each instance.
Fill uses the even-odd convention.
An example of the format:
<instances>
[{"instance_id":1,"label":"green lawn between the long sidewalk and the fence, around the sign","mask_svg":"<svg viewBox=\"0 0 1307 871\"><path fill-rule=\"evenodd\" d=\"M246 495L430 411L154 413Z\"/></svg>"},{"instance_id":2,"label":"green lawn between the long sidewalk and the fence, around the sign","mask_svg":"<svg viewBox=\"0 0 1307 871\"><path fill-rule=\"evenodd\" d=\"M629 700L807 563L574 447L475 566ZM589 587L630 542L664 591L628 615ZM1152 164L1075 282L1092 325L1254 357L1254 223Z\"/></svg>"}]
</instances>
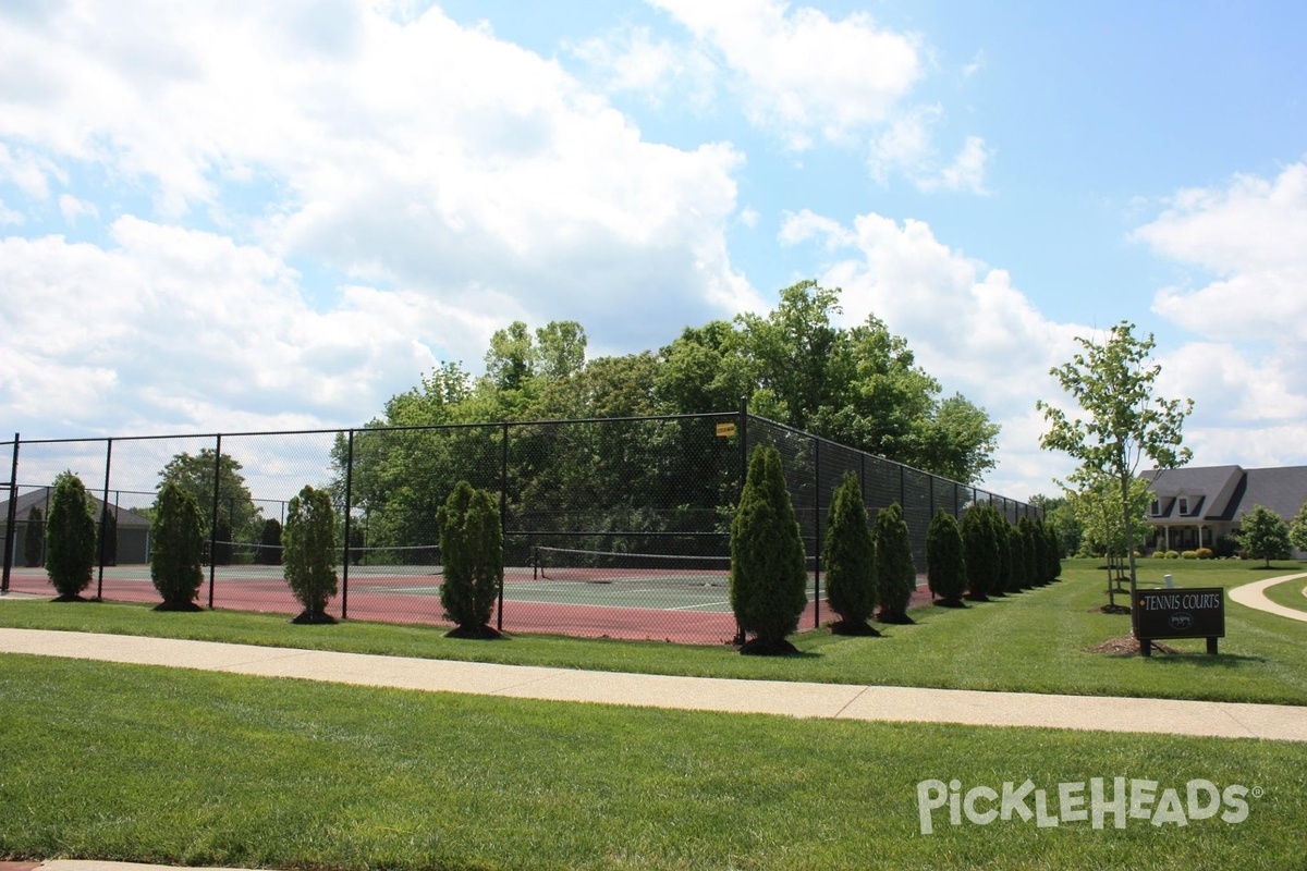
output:
<instances>
[{"instance_id":1,"label":"green lawn between the long sidewalk and the fence, around the sign","mask_svg":"<svg viewBox=\"0 0 1307 871\"><path fill-rule=\"evenodd\" d=\"M1239 562L1167 560L1158 567L1145 560L1140 584L1161 586L1163 568L1180 586L1225 588L1303 571L1298 563L1268 571ZM1129 633L1128 616L1098 611L1104 590L1106 575L1097 562L1073 560L1059 584L966 610L918 609L916 626L881 627L880 639L805 632L795 636L802 656L779 659L741 657L724 645L549 636L457 641L433 627L362 622L295 627L286 616L158 614L136 605L8 601L0 602L0 626L608 671L1307 704L1307 624L1229 602L1219 656L1206 656L1202 640L1171 642L1182 652L1175 657L1091 653L1102 641Z\"/></svg>"}]
</instances>

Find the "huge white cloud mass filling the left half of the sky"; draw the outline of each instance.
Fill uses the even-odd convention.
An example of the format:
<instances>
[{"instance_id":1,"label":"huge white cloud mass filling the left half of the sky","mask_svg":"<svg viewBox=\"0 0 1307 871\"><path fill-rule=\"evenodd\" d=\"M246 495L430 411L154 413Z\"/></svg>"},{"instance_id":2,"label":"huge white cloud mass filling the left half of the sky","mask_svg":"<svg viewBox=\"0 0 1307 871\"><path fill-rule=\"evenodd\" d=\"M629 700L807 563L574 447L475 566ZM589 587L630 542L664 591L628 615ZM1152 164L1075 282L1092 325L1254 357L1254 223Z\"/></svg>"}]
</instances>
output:
<instances>
[{"instance_id":1,"label":"huge white cloud mass filling the left half of the sky","mask_svg":"<svg viewBox=\"0 0 1307 871\"><path fill-rule=\"evenodd\" d=\"M10 419L359 422L514 319L605 353L761 307L735 148L651 142L438 8L48 4L0 44L0 221L95 240L0 238Z\"/></svg>"}]
</instances>

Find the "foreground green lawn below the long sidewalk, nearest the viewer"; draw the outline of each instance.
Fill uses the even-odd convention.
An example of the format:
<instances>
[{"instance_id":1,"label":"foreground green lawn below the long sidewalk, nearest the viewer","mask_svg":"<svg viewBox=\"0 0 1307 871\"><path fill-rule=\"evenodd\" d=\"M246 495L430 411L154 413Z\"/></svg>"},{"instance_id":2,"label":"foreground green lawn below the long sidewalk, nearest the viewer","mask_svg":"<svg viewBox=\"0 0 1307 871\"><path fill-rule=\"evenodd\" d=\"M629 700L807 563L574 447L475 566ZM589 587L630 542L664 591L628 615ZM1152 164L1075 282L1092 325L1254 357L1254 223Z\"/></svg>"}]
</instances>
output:
<instances>
[{"instance_id":1,"label":"foreground green lawn below the long sidewalk, nearest the viewer","mask_svg":"<svg viewBox=\"0 0 1307 871\"><path fill-rule=\"evenodd\" d=\"M5 858L350 871L1303 867L1303 744L626 709L22 656L0 669ZM1145 816L1121 829L1112 814L1103 828L1042 828L1019 810L954 825L945 804L923 833L924 781L999 793L1029 778L1056 817L1060 784L1104 778L1111 793L1116 777L1157 781ZM1246 819L1189 819L1192 780L1246 787ZM1185 825L1149 816L1166 790ZM1021 804L1038 812L1034 794Z\"/></svg>"}]
</instances>

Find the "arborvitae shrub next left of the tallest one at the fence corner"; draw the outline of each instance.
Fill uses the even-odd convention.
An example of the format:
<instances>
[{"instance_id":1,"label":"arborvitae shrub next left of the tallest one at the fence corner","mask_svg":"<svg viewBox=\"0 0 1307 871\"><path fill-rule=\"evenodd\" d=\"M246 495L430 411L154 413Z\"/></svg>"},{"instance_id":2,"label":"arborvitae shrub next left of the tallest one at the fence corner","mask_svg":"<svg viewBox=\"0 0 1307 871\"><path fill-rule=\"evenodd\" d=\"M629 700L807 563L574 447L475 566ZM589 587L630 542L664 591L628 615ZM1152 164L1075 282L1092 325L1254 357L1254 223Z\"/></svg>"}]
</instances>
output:
<instances>
[{"instance_id":1,"label":"arborvitae shrub next left of the tallest one at the fence corner","mask_svg":"<svg viewBox=\"0 0 1307 871\"><path fill-rule=\"evenodd\" d=\"M455 623L452 637L497 637L490 614L503 584L503 529L499 508L485 490L455 484L439 512L440 605Z\"/></svg>"}]
</instances>

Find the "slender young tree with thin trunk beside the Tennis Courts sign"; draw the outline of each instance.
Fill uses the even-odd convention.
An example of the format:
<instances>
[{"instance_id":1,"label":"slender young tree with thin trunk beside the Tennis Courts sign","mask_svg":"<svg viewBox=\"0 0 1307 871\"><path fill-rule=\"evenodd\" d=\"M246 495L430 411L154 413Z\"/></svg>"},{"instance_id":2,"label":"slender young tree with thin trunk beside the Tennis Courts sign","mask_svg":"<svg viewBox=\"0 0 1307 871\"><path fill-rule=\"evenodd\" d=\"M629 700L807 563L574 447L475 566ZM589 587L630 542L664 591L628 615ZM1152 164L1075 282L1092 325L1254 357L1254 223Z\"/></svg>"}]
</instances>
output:
<instances>
[{"instance_id":1,"label":"slender young tree with thin trunk beside the Tennis Courts sign","mask_svg":"<svg viewBox=\"0 0 1307 871\"><path fill-rule=\"evenodd\" d=\"M1128 511L1131 482L1145 458L1157 469L1174 469L1189 461L1192 453L1183 447L1182 430L1193 401L1166 400L1157 394L1162 367L1150 358L1157 343L1151 333L1137 337L1134 324L1120 321L1103 342L1084 337L1076 341L1082 350L1050 373L1085 414L1069 417L1056 405L1036 402L1035 407L1044 413L1048 423L1040 445L1063 451L1077 460L1081 469L1106 474L1116 482L1121 495L1131 601L1134 601L1137 526Z\"/></svg>"}]
</instances>

